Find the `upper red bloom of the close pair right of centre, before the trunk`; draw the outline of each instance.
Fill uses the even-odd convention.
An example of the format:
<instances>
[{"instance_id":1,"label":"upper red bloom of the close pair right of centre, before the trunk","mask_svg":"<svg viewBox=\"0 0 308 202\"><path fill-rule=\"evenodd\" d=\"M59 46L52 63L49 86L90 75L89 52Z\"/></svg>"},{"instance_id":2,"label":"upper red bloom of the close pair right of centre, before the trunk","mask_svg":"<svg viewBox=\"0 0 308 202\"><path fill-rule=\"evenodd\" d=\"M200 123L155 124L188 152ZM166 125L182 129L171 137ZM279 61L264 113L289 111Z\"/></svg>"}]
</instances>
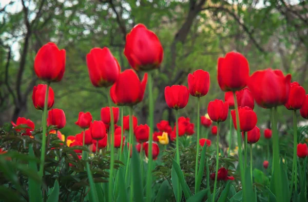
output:
<instances>
[{"instance_id":1,"label":"upper red bloom of the close pair right of centre, before the trunk","mask_svg":"<svg viewBox=\"0 0 308 202\"><path fill-rule=\"evenodd\" d=\"M209 73L199 69L188 74L188 89L190 95L194 97L206 95L209 89Z\"/></svg>"}]
</instances>

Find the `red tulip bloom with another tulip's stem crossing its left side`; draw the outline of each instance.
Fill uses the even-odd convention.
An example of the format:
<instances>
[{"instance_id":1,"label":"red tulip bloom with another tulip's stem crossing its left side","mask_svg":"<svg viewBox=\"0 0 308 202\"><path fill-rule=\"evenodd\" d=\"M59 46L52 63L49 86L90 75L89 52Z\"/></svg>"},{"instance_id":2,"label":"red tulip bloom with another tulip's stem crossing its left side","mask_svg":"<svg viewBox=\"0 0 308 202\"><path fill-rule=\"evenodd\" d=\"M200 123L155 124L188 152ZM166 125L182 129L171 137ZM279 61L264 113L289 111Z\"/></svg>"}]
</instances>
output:
<instances>
[{"instance_id":1,"label":"red tulip bloom with another tulip's stem crossing its left side","mask_svg":"<svg viewBox=\"0 0 308 202\"><path fill-rule=\"evenodd\" d=\"M234 128L237 130L235 110L231 110ZM257 114L250 107L239 107L239 119L241 131L253 130L257 124Z\"/></svg>"}]
</instances>

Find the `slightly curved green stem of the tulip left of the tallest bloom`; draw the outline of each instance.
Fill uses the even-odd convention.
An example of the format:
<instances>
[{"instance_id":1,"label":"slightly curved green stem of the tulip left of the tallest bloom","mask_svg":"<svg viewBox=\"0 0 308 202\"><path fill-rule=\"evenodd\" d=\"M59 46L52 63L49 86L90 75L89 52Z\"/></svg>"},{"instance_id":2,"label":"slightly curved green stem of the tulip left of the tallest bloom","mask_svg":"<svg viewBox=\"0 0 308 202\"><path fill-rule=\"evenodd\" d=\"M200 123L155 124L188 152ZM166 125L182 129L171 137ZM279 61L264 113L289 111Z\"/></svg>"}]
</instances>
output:
<instances>
[{"instance_id":1,"label":"slightly curved green stem of the tulip left of the tallest bloom","mask_svg":"<svg viewBox=\"0 0 308 202\"><path fill-rule=\"evenodd\" d=\"M111 103L111 97L109 96L109 90L106 93L108 98L108 104L110 109L110 128L111 128L111 134L110 134L110 172L109 172L109 186L108 186L108 199L109 202L112 202L112 193L113 193L113 167L114 167L114 119L113 119L113 110L112 110L112 103ZM121 139L122 142L122 139Z\"/></svg>"}]
</instances>

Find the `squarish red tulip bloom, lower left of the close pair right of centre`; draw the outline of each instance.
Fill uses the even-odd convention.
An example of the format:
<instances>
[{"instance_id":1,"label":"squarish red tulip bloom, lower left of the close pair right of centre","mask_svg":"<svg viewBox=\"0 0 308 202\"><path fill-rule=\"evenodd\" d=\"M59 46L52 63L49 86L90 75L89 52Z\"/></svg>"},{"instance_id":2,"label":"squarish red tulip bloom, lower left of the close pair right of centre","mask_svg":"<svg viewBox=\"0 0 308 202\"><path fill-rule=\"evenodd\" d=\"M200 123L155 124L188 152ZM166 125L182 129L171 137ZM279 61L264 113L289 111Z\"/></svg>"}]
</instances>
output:
<instances>
[{"instance_id":1,"label":"squarish red tulip bloom, lower left of the close pair right of centre","mask_svg":"<svg viewBox=\"0 0 308 202\"><path fill-rule=\"evenodd\" d=\"M168 107L182 109L188 103L189 91L186 86L173 85L165 88L165 99Z\"/></svg>"}]
</instances>

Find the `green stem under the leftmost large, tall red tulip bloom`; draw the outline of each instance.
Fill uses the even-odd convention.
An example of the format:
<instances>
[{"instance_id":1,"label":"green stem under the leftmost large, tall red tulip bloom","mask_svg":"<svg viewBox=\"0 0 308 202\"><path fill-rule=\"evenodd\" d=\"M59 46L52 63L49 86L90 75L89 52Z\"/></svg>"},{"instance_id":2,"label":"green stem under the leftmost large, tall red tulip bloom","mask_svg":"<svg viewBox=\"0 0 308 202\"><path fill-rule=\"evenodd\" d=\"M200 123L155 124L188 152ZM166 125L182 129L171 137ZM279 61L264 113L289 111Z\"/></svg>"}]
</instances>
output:
<instances>
[{"instance_id":1,"label":"green stem under the leftmost large, tall red tulip bloom","mask_svg":"<svg viewBox=\"0 0 308 202\"><path fill-rule=\"evenodd\" d=\"M40 177L43 177L44 172L44 163L45 163L45 153L46 153L46 130L47 130L47 105L48 105L48 91L49 91L50 83L47 83L46 93L45 93L45 102L44 102L44 110L43 110L43 118L42 118L42 151L41 151L41 165L40 171L38 172Z\"/></svg>"}]
</instances>

